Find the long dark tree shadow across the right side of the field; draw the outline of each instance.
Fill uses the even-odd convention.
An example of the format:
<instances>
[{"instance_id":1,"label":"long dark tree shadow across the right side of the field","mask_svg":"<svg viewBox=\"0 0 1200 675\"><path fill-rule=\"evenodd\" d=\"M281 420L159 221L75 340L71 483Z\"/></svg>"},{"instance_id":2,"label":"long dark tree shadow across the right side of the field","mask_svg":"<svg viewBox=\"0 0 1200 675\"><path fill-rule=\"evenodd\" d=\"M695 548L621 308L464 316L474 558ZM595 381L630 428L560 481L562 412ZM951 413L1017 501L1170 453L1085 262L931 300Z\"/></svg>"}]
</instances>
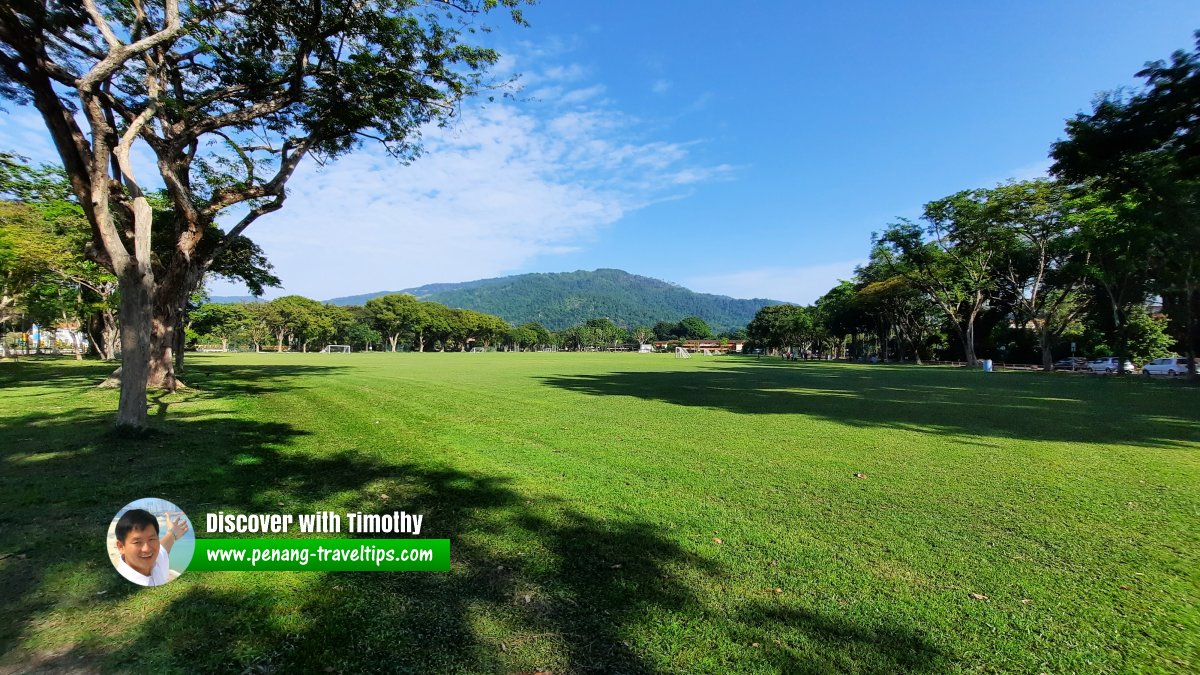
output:
<instances>
[{"instance_id":1,"label":"long dark tree shadow across the right side of the field","mask_svg":"<svg viewBox=\"0 0 1200 675\"><path fill-rule=\"evenodd\" d=\"M752 360L540 381L595 396L811 416L852 426L1163 448L1200 443L1200 390L1160 382Z\"/></svg>"}]
</instances>

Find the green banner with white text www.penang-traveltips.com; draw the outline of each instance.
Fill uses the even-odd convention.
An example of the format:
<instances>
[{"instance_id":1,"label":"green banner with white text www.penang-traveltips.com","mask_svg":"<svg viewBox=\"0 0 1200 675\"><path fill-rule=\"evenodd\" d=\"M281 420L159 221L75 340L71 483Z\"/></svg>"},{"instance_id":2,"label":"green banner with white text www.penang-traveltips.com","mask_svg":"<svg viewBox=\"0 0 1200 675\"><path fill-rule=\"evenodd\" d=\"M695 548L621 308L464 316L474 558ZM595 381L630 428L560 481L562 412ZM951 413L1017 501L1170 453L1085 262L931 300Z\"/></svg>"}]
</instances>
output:
<instances>
[{"instance_id":1,"label":"green banner with white text www.penang-traveltips.com","mask_svg":"<svg viewBox=\"0 0 1200 675\"><path fill-rule=\"evenodd\" d=\"M196 539L188 572L449 572L450 539Z\"/></svg>"}]
</instances>

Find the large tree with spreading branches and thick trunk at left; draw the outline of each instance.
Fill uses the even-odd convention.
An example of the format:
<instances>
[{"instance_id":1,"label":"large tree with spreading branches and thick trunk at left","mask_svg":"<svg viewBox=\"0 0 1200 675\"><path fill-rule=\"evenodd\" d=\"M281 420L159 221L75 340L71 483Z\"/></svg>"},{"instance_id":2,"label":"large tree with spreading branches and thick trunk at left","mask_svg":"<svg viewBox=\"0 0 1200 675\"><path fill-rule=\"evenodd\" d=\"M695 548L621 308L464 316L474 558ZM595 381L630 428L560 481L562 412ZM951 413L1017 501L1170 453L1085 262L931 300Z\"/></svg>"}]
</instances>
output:
<instances>
[{"instance_id":1,"label":"large tree with spreading branches and thick trunk at left","mask_svg":"<svg viewBox=\"0 0 1200 675\"><path fill-rule=\"evenodd\" d=\"M283 205L296 167L365 139L414 159L421 127L446 123L498 58L464 43L476 16L499 6L521 23L520 2L0 5L0 95L41 114L91 226L88 257L119 280L118 424L145 426L148 386L174 389L179 312L214 261ZM142 156L158 177L138 174ZM151 183L166 189L167 223Z\"/></svg>"}]
</instances>

